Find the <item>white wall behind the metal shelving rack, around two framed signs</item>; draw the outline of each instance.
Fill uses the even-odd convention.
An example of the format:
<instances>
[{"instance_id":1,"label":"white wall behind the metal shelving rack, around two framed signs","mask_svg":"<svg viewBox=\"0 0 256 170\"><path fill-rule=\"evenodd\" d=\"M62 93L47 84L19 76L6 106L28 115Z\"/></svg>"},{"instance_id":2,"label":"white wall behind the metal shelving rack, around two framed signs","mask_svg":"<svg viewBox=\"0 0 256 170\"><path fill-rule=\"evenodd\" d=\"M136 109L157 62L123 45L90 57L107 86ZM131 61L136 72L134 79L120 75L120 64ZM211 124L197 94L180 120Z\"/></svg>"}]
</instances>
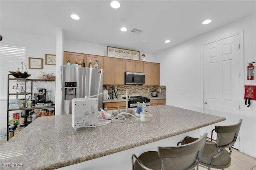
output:
<instances>
[{"instance_id":1,"label":"white wall behind the metal shelving rack, around two framed signs","mask_svg":"<svg viewBox=\"0 0 256 170\"><path fill-rule=\"evenodd\" d=\"M40 69L29 69L28 73L31 74L29 78L34 78L36 72L44 71L46 74L51 72L55 75L55 66L45 64L45 54L56 54L56 39L50 37L43 37L39 35L32 35L27 33L13 32L1 29L1 35L3 40L1 43L8 43L14 45L25 45L26 46L26 66L28 68L28 58L41 58L43 59L43 70ZM20 64L22 66L22 64ZM20 67L20 66L17 66ZM15 70L10 70L15 71ZM6 75L8 72L6 73ZM1 82L1 85L7 82ZM29 85L29 84L28 84ZM33 83L33 86L36 83ZM53 86L52 86L53 85ZM30 88L31 86L28 86ZM38 83L39 88L46 88L46 90L52 90L52 97L55 95L55 83ZM6 89L7 93L7 89ZM0 101L0 128L7 126L7 101Z\"/></svg>"}]
</instances>

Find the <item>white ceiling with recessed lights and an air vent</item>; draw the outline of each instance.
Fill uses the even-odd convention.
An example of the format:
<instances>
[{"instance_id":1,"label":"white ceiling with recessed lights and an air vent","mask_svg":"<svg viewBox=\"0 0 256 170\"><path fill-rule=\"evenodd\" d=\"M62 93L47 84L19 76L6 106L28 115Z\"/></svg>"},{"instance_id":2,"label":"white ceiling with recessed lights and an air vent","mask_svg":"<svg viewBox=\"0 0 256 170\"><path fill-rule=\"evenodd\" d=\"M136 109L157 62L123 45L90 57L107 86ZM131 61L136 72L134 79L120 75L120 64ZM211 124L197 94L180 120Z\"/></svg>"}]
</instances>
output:
<instances>
[{"instance_id":1,"label":"white ceiling with recessed lights and an air vent","mask_svg":"<svg viewBox=\"0 0 256 170\"><path fill-rule=\"evenodd\" d=\"M61 27L66 39L157 53L256 12L255 0L120 0L118 9L110 2L1 0L0 27L49 37L56 37L56 27ZM206 19L212 22L202 25ZM120 31L124 26L128 31ZM129 33L133 28L142 33ZM171 42L164 43L166 39Z\"/></svg>"}]
</instances>

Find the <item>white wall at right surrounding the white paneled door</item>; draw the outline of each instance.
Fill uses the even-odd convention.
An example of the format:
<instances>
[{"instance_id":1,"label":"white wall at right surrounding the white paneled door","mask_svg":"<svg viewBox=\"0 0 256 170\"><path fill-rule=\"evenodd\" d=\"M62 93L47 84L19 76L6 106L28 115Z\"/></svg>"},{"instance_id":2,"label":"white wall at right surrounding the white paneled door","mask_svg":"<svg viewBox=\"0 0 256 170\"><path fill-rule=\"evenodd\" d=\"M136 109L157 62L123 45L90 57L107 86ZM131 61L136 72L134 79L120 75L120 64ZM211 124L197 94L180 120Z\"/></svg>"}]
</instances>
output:
<instances>
[{"instance_id":1,"label":"white wall at right surrounding the white paneled door","mask_svg":"<svg viewBox=\"0 0 256 170\"><path fill-rule=\"evenodd\" d=\"M212 23L213 24L213 23ZM156 54L160 62L160 84L166 85L166 104L195 111L203 111L201 45L240 33L244 30L244 84L256 85L256 80L246 80L249 61L256 60L256 18L255 14L210 31L189 41ZM244 87L241 87L244 91ZM241 96L243 98L243 96ZM241 150L256 157L256 102L245 107L240 131Z\"/></svg>"}]
</instances>

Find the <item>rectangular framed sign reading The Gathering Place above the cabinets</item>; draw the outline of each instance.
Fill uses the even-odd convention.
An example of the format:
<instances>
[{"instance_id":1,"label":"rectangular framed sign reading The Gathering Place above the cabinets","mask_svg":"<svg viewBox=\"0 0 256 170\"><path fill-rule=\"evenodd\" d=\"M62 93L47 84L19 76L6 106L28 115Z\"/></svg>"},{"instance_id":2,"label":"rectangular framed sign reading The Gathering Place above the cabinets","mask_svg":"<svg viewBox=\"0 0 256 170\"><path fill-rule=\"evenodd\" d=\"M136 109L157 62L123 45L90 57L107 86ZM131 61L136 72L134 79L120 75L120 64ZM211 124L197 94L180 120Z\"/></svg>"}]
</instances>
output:
<instances>
[{"instance_id":1,"label":"rectangular framed sign reading The Gathering Place above the cabinets","mask_svg":"<svg viewBox=\"0 0 256 170\"><path fill-rule=\"evenodd\" d=\"M107 56L121 59L140 60L140 51L107 46Z\"/></svg>"}]
</instances>

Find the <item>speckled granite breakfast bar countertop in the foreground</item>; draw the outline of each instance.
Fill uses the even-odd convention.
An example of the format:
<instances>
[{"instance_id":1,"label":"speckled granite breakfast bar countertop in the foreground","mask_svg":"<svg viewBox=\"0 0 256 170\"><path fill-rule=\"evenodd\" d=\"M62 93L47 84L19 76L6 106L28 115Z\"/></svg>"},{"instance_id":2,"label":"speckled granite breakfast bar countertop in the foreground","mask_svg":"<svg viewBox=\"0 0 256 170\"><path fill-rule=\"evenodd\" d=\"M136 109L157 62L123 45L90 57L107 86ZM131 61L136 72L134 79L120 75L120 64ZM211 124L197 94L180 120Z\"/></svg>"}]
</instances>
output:
<instances>
[{"instance_id":1,"label":"speckled granite breakfast bar countertop in the foreground","mask_svg":"<svg viewBox=\"0 0 256 170\"><path fill-rule=\"evenodd\" d=\"M135 118L102 127L72 128L72 115L39 117L1 145L5 169L56 169L140 147L224 121L224 117L168 105L150 106L148 122ZM149 130L150 129L150 130ZM103 145L104 144L104 145Z\"/></svg>"}]
</instances>

